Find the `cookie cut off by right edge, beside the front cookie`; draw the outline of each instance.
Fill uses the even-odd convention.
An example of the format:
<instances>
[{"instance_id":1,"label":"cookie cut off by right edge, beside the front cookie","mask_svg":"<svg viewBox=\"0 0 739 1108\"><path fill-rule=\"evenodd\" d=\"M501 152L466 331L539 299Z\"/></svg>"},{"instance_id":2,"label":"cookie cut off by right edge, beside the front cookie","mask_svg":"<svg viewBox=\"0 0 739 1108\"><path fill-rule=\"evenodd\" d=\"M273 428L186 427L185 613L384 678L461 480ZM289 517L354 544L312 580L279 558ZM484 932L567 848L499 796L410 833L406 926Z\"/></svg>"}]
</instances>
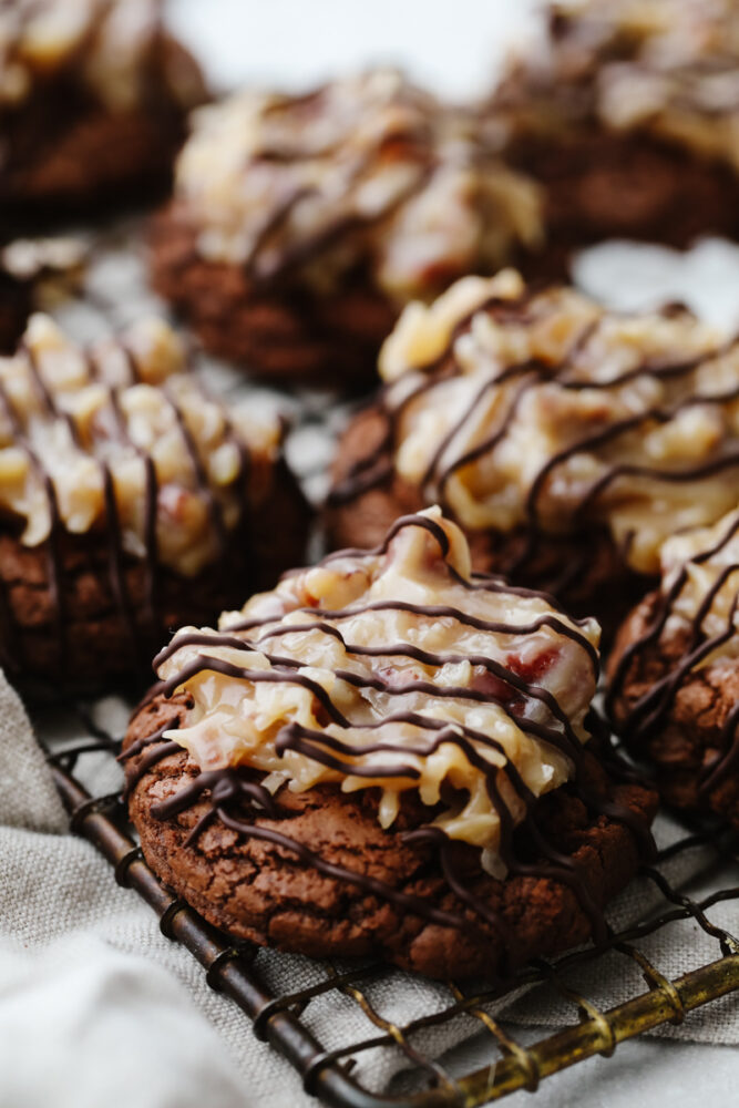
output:
<instances>
[{"instance_id":1,"label":"cookie cut off by right edge, beside the front cookie","mask_svg":"<svg viewBox=\"0 0 739 1108\"><path fill-rule=\"evenodd\" d=\"M608 660L608 709L665 799L739 829L739 514L663 548Z\"/></svg>"}]
</instances>

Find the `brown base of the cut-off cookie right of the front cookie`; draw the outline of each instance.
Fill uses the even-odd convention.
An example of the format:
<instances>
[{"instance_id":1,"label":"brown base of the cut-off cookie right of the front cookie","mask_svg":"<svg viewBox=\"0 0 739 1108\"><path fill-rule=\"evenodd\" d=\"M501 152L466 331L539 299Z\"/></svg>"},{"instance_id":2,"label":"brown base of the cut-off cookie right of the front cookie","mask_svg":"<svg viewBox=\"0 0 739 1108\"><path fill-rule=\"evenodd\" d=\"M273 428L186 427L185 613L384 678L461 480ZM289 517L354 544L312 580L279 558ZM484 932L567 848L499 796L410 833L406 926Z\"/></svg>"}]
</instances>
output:
<instances>
[{"instance_id":1,"label":"brown base of the cut-off cookie right of the front cookie","mask_svg":"<svg viewBox=\"0 0 739 1108\"><path fill-rule=\"evenodd\" d=\"M661 635L639 650L629 649L654 624L658 605L659 594L650 593L616 637L607 666L615 727L624 730L634 756L651 765L656 784L669 804L691 813L715 812L739 830L739 750L732 761L725 761L729 751L722 736L729 714L739 702L738 659L686 673L658 720L645 728L644 737L629 733L624 726L642 697L675 671L687 646L685 636Z\"/></svg>"}]
</instances>

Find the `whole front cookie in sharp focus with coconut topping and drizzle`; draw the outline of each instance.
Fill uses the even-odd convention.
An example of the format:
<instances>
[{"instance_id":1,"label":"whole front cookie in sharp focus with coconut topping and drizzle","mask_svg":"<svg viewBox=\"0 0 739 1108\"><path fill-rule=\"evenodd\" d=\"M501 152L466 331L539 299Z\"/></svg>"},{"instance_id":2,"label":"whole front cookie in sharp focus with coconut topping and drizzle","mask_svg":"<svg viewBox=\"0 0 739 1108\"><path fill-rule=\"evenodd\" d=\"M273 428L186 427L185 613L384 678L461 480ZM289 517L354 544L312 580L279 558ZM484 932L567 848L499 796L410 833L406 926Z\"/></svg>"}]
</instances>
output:
<instances>
[{"instance_id":1,"label":"whole front cookie in sharp focus with coconut topping and drizzle","mask_svg":"<svg viewBox=\"0 0 739 1108\"><path fill-rule=\"evenodd\" d=\"M598 628L438 509L184 628L122 756L156 873L230 934L434 977L604 937L655 797L591 747Z\"/></svg>"}]
</instances>

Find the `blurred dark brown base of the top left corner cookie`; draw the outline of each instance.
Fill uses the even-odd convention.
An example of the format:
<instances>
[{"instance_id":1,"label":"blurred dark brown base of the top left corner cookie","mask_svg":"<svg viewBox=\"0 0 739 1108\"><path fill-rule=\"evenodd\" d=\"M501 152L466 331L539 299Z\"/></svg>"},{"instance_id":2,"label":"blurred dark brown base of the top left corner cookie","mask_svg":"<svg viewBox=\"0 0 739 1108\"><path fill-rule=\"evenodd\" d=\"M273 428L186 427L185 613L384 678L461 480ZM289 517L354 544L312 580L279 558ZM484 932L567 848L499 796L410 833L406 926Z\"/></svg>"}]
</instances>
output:
<instances>
[{"instance_id":1,"label":"blurred dark brown base of the top left corner cookie","mask_svg":"<svg viewBox=\"0 0 739 1108\"><path fill-rule=\"evenodd\" d=\"M185 134L185 109L165 70L186 76L193 102L205 98L199 70L173 40L152 59L146 103L111 112L73 80L50 81L2 124L0 234L53 225L70 216L120 211L162 195Z\"/></svg>"}]
</instances>

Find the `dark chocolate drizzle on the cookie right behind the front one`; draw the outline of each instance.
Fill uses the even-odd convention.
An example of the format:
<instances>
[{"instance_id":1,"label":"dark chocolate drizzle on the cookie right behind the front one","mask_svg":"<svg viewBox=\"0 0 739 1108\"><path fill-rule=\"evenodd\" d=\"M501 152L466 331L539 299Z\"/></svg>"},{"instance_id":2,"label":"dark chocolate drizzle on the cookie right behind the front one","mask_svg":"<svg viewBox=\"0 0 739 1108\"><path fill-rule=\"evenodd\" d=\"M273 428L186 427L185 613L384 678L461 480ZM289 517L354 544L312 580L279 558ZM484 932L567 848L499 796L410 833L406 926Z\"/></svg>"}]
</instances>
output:
<instances>
[{"instance_id":1,"label":"dark chocolate drizzle on the cookie right behind the front one","mask_svg":"<svg viewBox=\"0 0 739 1108\"><path fill-rule=\"evenodd\" d=\"M544 296L546 296L546 290ZM396 454L402 442L404 417L409 411L412 411L412 407L418 400L422 400L438 386L443 384L450 378L464 376L465 369L458 358L458 339L470 334L473 321L484 316L501 326L509 322L525 326L530 321L532 308L536 305L537 297L537 291L530 288L516 299L490 298L456 324L445 349L439 357L425 366L409 366L403 377L380 390L374 407L384 427L381 439L379 442L373 441L366 454L355 459L346 473L336 482L328 497L329 509L349 505L374 489L389 491L392 495L393 482L397 476ZM669 317L669 309L666 309L664 315ZM597 340L603 324L609 318L612 317L604 314L595 321L586 324L574 336L561 361L555 365L537 359L527 359L505 366L496 372L491 371L491 375L475 390L462 414L444 431L431 454L424 473L418 481L415 491L419 500L424 504L441 504L444 512L454 517L454 510L448 495L450 480L461 470L474 463L494 464L497 449L509 441L521 404L532 390L552 383L565 391L603 392L628 387L639 379L656 382L669 381L674 384L676 398L669 403L645 407L644 410L616 419L605 427L598 421L595 424L596 430L586 427L575 441L571 441L553 452L538 471L533 474L527 490L523 494L522 522L515 526L512 525L512 530L515 530L516 533L523 533L524 541L514 560L505 566L509 574L523 574L525 579L526 567L532 566L538 555L545 554L547 537L551 534L554 534L555 537L562 535L584 537L592 534L593 531L601 530L604 523L603 512L601 512L604 494L618 482L640 482L646 483L647 488L649 485L658 488L659 485L699 484L715 479L721 473L735 471L731 480L737 481L739 488L739 442L730 438L723 444L719 444L705 460L695 464L689 463L689 459L663 466L649 461L636 461L632 464L627 460L620 461L618 459L619 442L627 435L633 438L635 434L647 433L654 425L668 424L689 408L730 404L736 401L739 398L739 382L729 384L720 392L698 391L698 386L689 380L689 376L698 370L704 362L736 352L738 340L732 339L726 343L717 343L700 356L674 361L645 358L637 366L607 380L594 380L592 376L585 377L582 370L577 376L578 359L587 352L591 343ZM419 383L415 383L417 379ZM487 424L478 429L480 406L485 402L491 392L497 389L507 389L507 394L504 393L501 397L501 403L496 406L495 413L490 417ZM473 435L473 445L465 450L460 448L455 451L454 444L458 440ZM561 511L554 522L543 520L542 499L553 483L556 483L558 472L572 459L586 453L598 455L603 463L603 471L588 488L578 494L572 511L568 510L567 513L564 510ZM615 456L613 456L614 454ZM401 479L401 483L403 480ZM625 484L624 488L627 491L628 484ZM556 496L556 493L554 495ZM458 522L462 521L458 520ZM714 521L707 520L706 522ZM495 527L483 530L490 531L491 534L496 533ZM626 564L628 543L625 544L624 550L618 552L618 555ZM576 583L583 568L587 565L587 556L588 551L585 550L583 564L567 566L562 578L558 576L560 570L557 568L557 576L553 576L552 579L545 578L544 583L547 588L562 592Z\"/></svg>"}]
</instances>

